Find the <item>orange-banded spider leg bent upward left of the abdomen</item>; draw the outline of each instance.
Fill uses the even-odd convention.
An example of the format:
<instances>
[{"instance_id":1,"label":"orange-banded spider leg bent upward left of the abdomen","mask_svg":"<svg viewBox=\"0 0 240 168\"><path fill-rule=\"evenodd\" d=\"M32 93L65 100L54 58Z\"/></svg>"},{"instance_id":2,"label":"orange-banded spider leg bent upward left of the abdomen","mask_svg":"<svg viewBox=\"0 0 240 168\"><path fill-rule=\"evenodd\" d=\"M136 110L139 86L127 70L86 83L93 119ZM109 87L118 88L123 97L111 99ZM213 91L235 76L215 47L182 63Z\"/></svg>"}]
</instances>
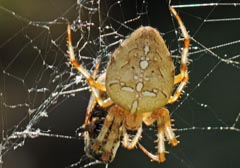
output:
<instances>
[{"instance_id":1,"label":"orange-banded spider leg bent upward left of the abdomen","mask_svg":"<svg viewBox=\"0 0 240 168\"><path fill-rule=\"evenodd\" d=\"M92 89L92 92L94 93L94 95L96 97L98 104L101 107L110 106L113 103L111 101L111 99L108 98L106 100L102 100L100 93L99 93L99 90L106 91L105 85L103 85L102 83L100 83L98 81L95 81L95 79L94 79L95 75L91 76L89 74L89 72L81 64L79 64L79 62L75 58L75 54L74 54L74 50L73 50L73 46L72 46L71 26L70 25L68 25L68 27L67 27L67 32L68 32L68 52L69 52L70 63L73 65L73 67L75 69L77 69L87 79L87 81ZM98 70L98 67L96 67L96 69Z\"/></svg>"}]
</instances>

